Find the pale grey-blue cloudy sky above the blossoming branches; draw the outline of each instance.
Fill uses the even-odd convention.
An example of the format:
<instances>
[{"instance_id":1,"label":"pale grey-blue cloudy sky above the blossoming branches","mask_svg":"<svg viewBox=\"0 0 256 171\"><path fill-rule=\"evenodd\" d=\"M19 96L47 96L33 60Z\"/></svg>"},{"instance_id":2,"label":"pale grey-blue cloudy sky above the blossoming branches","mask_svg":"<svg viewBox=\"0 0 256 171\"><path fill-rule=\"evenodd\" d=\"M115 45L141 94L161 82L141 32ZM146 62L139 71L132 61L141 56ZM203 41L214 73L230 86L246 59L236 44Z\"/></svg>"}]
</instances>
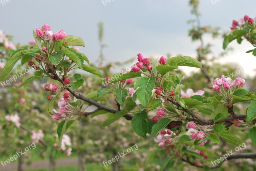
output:
<instances>
[{"instance_id":1,"label":"pale grey-blue cloudy sky above the blossoming branches","mask_svg":"<svg viewBox=\"0 0 256 171\"><path fill-rule=\"evenodd\" d=\"M188 0L108 1L107 4L102 0L5 1L4 5L0 4L0 30L13 35L15 43L25 44L33 39L32 30L48 23L53 32L65 30L68 35L82 37L86 47L79 47L80 51L90 62L95 62L100 50L97 23L102 21L103 42L108 45L104 49L107 61L125 61L135 58L138 53L154 58L167 53L196 58L195 49L199 42L192 42L188 36L191 25L187 21L194 19ZM226 31L233 19L245 14L254 18L255 6L255 0L216 0L216 4L211 0L201 0L201 25L219 26ZM214 45L212 51L216 57L224 51L222 38L212 40L205 36L204 40ZM238 45L234 41L230 47L234 51L218 61L230 65L237 62L245 74L255 75L256 57L245 53L252 49L252 45L246 41ZM186 68L187 73L190 71Z\"/></svg>"}]
</instances>

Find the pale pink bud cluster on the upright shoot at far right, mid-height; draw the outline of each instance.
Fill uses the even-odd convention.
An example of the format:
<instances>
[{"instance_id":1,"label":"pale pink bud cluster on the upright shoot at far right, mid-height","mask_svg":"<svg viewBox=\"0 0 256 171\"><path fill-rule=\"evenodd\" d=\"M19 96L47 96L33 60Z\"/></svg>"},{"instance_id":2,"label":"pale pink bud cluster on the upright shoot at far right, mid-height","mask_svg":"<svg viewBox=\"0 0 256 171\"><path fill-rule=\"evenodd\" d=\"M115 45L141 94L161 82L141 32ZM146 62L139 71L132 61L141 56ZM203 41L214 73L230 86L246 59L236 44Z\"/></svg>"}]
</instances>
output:
<instances>
[{"instance_id":1,"label":"pale pink bud cluster on the upright shoot at far right, mid-height","mask_svg":"<svg viewBox=\"0 0 256 171\"><path fill-rule=\"evenodd\" d=\"M216 78L213 82L212 88L214 91L220 91L220 88L229 90L232 86L234 87L243 87L245 84L245 80L243 78L237 78L233 81L232 79L224 75L221 75L221 78Z\"/></svg>"}]
</instances>

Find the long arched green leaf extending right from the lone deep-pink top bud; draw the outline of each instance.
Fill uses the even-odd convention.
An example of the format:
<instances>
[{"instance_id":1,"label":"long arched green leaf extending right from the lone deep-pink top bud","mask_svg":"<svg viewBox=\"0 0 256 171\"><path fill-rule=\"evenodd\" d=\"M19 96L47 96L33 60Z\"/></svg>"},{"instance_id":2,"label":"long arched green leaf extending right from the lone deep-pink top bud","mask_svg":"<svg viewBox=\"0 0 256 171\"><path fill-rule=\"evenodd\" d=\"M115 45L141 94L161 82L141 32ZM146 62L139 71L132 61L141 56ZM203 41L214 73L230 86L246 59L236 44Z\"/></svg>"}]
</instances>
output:
<instances>
[{"instance_id":1,"label":"long arched green leaf extending right from the lone deep-pink top bud","mask_svg":"<svg viewBox=\"0 0 256 171\"><path fill-rule=\"evenodd\" d=\"M178 66L191 66L202 69L201 62L189 56L178 56L170 58L167 60L167 64L170 65L172 61L175 62Z\"/></svg>"}]
</instances>

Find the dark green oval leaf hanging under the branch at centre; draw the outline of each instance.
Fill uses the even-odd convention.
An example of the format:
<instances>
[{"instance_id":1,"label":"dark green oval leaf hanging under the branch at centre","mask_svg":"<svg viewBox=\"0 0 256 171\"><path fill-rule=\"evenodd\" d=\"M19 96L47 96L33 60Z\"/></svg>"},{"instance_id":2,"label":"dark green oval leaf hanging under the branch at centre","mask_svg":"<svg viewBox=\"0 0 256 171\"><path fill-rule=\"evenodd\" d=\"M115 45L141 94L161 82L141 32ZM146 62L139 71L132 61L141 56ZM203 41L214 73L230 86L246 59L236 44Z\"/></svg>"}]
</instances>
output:
<instances>
[{"instance_id":1,"label":"dark green oval leaf hanging under the branch at centre","mask_svg":"<svg viewBox=\"0 0 256 171\"><path fill-rule=\"evenodd\" d=\"M142 136L143 138L147 138L148 133L148 123L146 121L148 119L148 115L145 111L141 111L141 113L137 113L132 117L132 128L134 132L138 136Z\"/></svg>"}]
</instances>

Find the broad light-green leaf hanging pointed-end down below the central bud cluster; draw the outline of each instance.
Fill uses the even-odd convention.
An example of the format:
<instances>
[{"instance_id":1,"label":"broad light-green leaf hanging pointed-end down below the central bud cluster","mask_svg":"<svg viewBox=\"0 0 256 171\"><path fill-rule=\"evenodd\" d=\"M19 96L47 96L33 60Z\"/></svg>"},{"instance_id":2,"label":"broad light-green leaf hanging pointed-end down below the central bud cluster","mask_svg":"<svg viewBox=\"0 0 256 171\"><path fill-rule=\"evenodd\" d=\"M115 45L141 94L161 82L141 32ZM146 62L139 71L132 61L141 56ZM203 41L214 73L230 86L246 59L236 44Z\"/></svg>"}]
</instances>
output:
<instances>
[{"instance_id":1,"label":"broad light-green leaf hanging pointed-end down below the central bud cluster","mask_svg":"<svg viewBox=\"0 0 256 171\"><path fill-rule=\"evenodd\" d=\"M149 98L152 96L152 90L155 86L155 77L142 77L134 85L141 105L147 106Z\"/></svg>"}]
</instances>

